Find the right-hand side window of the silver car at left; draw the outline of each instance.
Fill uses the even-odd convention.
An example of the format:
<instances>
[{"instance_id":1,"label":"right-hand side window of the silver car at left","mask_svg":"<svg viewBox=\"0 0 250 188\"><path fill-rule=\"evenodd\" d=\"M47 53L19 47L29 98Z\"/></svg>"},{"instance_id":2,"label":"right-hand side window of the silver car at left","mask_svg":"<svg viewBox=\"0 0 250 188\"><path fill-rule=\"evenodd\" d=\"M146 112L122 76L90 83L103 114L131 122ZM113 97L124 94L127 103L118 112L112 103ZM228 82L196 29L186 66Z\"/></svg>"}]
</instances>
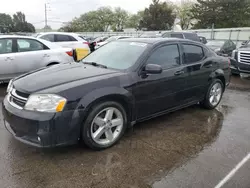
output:
<instances>
[{"instance_id":1,"label":"right-hand side window of the silver car at left","mask_svg":"<svg viewBox=\"0 0 250 188\"><path fill-rule=\"evenodd\" d=\"M42 43L32 39L17 39L17 51L18 52L29 52L43 50L44 46Z\"/></svg>"}]
</instances>

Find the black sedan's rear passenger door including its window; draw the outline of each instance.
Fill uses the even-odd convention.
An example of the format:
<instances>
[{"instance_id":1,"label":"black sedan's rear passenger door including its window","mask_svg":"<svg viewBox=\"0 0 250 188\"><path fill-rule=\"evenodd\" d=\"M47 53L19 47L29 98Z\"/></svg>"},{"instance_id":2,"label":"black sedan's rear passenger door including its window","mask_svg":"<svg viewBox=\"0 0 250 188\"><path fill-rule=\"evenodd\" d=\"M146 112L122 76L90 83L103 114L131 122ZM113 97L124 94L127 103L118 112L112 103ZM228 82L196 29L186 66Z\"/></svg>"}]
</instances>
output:
<instances>
[{"instance_id":1,"label":"black sedan's rear passenger door including its window","mask_svg":"<svg viewBox=\"0 0 250 188\"><path fill-rule=\"evenodd\" d=\"M207 57L207 49L197 44L182 43L183 64L188 72L187 97L190 101L203 97L214 62Z\"/></svg>"}]
</instances>

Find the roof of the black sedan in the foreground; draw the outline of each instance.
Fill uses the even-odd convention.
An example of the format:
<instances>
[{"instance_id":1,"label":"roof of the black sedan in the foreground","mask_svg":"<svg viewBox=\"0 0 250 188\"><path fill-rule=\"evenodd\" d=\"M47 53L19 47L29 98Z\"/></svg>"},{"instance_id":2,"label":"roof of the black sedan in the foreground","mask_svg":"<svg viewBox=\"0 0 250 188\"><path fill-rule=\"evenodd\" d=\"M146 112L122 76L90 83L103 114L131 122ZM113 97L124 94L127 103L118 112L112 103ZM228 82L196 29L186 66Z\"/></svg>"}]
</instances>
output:
<instances>
[{"instance_id":1,"label":"roof of the black sedan in the foreground","mask_svg":"<svg viewBox=\"0 0 250 188\"><path fill-rule=\"evenodd\" d=\"M148 44L155 44L160 42L190 42L190 43L198 43L195 41L191 41L188 39L179 39L179 38L127 38L122 39L121 41L129 41L129 42L141 42L141 43L148 43Z\"/></svg>"}]
</instances>

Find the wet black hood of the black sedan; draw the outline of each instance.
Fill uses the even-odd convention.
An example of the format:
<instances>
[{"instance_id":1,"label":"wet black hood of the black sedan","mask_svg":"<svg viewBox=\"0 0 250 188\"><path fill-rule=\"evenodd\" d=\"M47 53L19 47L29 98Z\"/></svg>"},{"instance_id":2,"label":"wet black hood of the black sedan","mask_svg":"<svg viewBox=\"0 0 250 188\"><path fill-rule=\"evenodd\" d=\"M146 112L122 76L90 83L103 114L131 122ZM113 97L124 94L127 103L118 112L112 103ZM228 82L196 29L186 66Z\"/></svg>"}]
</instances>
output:
<instances>
[{"instance_id":1,"label":"wet black hood of the black sedan","mask_svg":"<svg viewBox=\"0 0 250 188\"><path fill-rule=\"evenodd\" d=\"M34 93L83 79L93 77L103 79L103 76L115 73L118 73L118 71L94 67L83 63L69 63L54 65L24 74L16 78L13 84L17 90Z\"/></svg>"}]
</instances>

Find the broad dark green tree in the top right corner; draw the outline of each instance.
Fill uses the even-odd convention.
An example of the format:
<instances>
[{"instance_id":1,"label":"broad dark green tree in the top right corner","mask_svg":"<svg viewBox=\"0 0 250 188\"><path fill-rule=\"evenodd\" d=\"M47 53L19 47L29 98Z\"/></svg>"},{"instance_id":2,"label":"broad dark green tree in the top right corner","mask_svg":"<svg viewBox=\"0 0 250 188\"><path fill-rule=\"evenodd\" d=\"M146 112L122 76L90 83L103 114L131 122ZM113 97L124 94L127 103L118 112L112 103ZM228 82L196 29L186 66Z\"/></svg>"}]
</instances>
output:
<instances>
[{"instance_id":1,"label":"broad dark green tree in the top right corner","mask_svg":"<svg viewBox=\"0 0 250 188\"><path fill-rule=\"evenodd\" d=\"M250 26L249 0L197 0L191 11L197 20L194 28Z\"/></svg>"}]
</instances>

